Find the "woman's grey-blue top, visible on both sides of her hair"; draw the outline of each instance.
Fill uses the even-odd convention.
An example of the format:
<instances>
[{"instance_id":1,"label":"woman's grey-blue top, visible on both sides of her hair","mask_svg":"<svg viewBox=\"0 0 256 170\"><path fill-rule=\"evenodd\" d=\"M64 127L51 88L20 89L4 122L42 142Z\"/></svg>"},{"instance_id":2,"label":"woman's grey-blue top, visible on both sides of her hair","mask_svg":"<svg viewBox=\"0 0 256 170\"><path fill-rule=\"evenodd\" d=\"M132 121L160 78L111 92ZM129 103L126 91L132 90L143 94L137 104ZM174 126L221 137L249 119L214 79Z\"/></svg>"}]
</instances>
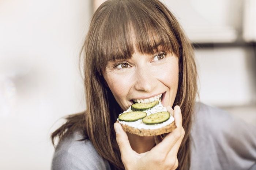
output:
<instances>
[{"instance_id":1,"label":"woman's grey-blue top, visible on both sides of her hair","mask_svg":"<svg viewBox=\"0 0 256 170\"><path fill-rule=\"evenodd\" d=\"M256 170L256 127L229 113L196 104L192 125L190 170ZM52 170L109 170L89 140L79 133L61 141L53 155Z\"/></svg>"}]
</instances>

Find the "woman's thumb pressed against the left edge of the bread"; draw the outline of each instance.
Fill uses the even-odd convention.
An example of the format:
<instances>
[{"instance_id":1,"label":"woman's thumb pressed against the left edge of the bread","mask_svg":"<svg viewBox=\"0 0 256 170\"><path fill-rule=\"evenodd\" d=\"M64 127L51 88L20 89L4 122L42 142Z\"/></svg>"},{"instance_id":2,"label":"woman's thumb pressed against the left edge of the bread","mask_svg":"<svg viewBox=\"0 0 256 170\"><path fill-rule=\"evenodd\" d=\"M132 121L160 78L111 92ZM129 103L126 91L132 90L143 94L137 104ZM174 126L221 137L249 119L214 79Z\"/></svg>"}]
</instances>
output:
<instances>
[{"instance_id":1,"label":"woman's thumb pressed against the left edge of the bread","mask_svg":"<svg viewBox=\"0 0 256 170\"><path fill-rule=\"evenodd\" d=\"M120 123L114 123L114 129L116 131L116 142L119 146L121 156L129 155L128 153L132 151L132 147L128 140L126 132L123 130Z\"/></svg>"}]
</instances>

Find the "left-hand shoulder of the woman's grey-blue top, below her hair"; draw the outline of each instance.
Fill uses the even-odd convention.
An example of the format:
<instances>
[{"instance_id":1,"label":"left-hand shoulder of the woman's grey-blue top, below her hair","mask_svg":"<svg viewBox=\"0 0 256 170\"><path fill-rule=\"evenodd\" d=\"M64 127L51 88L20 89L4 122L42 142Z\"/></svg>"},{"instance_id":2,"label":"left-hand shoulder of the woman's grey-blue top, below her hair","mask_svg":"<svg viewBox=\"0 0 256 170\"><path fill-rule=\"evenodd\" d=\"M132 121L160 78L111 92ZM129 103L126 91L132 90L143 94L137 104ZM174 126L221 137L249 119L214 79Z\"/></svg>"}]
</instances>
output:
<instances>
[{"instance_id":1,"label":"left-hand shoulder of the woman's grey-blue top, below her hair","mask_svg":"<svg viewBox=\"0 0 256 170\"><path fill-rule=\"evenodd\" d=\"M82 138L83 136L76 132L57 145L52 159L52 170L110 169L108 161L98 154L91 141L79 141Z\"/></svg>"}]
</instances>

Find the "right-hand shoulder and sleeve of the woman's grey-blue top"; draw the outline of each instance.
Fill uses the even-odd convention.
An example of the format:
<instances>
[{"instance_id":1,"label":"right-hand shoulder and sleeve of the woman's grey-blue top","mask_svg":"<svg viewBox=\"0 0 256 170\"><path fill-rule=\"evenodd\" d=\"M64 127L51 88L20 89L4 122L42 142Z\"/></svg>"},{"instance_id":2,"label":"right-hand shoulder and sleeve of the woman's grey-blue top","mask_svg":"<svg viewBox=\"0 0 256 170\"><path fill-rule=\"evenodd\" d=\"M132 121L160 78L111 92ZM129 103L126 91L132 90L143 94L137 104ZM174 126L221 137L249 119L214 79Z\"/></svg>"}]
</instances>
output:
<instances>
[{"instance_id":1,"label":"right-hand shoulder and sleeve of the woman's grey-blue top","mask_svg":"<svg viewBox=\"0 0 256 170\"><path fill-rule=\"evenodd\" d=\"M256 127L200 104L192 134L191 169L254 170Z\"/></svg>"}]
</instances>

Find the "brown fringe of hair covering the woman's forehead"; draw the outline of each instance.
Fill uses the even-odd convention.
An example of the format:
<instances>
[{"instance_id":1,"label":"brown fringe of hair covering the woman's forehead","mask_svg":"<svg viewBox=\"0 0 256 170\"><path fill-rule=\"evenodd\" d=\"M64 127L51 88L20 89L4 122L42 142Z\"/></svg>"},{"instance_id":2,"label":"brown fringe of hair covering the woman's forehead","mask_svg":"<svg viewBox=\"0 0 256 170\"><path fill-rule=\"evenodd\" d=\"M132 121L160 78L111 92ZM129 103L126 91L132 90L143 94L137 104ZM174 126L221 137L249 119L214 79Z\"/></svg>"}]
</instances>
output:
<instances>
[{"instance_id":1,"label":"brown fringe of hair covering the woman's forehead","mask_svg":"<svg viewBox=\"0 0 256 170\"><path fill-rule=\"evenodd\" d=\"M109 5L98 35L96 60L100 73L108 61L130 59L136 51L154 54L166 51L179 57L179 43L168 18L154 5L116 1ZM99 39L100 38L100 39ZM158 47L161 47L159 50Z\"/></svg>"}]
</instances>

